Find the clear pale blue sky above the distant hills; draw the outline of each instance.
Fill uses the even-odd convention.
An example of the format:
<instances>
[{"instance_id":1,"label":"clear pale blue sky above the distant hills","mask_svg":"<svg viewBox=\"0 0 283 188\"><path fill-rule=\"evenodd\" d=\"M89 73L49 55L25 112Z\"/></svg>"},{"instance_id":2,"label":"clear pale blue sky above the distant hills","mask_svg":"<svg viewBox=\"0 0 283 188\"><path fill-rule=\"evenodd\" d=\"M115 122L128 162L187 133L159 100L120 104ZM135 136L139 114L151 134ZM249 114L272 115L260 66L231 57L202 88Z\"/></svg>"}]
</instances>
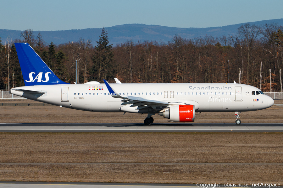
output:
<instances>
[{"instance_id":1,"label":"clear pale blue sky above the distant hills","mask_svg":"<svg viewBox=\"0 0 283 188\"><path fill-rule=\"evenodd\" d=\"M206 28L283 18L282 0L1 0L0 29L154 24Z\"/></svg>"}]
</instances>

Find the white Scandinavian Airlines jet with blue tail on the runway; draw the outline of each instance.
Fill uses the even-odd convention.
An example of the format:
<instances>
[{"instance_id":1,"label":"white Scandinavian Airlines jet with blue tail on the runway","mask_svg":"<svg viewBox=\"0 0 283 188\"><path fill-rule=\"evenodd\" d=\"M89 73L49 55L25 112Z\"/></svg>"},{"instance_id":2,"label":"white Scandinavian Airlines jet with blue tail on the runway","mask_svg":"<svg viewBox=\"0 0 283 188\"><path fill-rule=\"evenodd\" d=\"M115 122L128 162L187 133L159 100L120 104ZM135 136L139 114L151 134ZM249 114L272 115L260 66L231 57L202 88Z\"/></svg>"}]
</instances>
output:
<instances>
[{"instance_id":1,"label":"white Scandinavian Airlines jet with blue tail on the runway","mask_svg":"<svg viewBox=\"0 0 283 188\"><path fill-rule=\"evenodd\" d=\"M274 101L253 86L234 83L116 84L61 81L27 43L15 43L25 86L10 93L59 107L92 112L146 113L151 125L155 114L169 122L193 122L195 112L235 112L271 107Z\"/></svg>"}]
</instances>

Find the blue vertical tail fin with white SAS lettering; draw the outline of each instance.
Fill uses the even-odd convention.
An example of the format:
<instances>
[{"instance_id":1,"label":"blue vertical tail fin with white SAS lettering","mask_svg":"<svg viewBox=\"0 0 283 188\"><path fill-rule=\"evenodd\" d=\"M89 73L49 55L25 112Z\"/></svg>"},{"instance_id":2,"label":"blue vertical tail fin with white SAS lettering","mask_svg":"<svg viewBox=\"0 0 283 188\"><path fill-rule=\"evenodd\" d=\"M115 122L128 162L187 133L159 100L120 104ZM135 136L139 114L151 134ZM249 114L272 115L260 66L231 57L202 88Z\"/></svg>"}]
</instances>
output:
<instances>
[{"instance_id":1,"label":"blue vertical tail fin with white SAS lettering","mask_svg":"<svg viewBox=\"0 0 283 188\"><path fill-rule=\"evenodd\" d=\"M67 84L61 81L27 43L14 43L25 86Z\"/></svg>"}]
</instances>

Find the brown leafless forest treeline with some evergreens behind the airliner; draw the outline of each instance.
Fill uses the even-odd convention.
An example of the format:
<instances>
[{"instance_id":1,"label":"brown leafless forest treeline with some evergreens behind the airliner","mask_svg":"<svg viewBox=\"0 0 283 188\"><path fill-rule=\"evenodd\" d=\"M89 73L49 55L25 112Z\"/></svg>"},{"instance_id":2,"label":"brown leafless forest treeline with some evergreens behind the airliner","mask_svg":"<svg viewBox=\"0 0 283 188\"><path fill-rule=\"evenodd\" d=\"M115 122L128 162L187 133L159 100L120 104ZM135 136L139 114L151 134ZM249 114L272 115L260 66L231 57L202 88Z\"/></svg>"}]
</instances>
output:
<instances>
[{"instance_id":1,"label":"brown leafless forest treeline with some evergreens behind the airliner","mask_svg":"<svg viewBox=\"0 0 283 188\"><path fill-rule=\"evenodd\" d=\"M282 91L282 30L276 23L243 24L233 36L184 39L176 34L167 43L130 40L112 46L103 28L94 46L91 39L82 38L46 44L40 33L34 36L27 29L20 39L0 38L0 90L24 86L14 42L27 42L68 83L76 79L75 61L78 83L114 83L114 77L122 83L227 83L229 63L229 83Z\"/></svg>"}]
</instances>

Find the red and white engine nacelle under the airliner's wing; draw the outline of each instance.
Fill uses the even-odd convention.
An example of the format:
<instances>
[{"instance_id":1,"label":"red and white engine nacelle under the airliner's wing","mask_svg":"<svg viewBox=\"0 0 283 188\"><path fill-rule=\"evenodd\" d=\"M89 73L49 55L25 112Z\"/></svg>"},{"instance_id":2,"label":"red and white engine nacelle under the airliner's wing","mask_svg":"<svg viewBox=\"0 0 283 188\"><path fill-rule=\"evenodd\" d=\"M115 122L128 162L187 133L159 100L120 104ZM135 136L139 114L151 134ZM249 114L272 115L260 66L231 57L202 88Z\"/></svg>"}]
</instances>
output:
<instances>
[{"instance_id":1,"label":"red and white engine nacelle under the airliner's wing","mask_svg":"<svg viewBox=\"0 0 283 188\"><path fill-rule=\"evenodd\" d=\"M190 104L171 106L158 115L168 118L172 122L193 122L195 121L195 106Z\"/></svg>"}]
</instances>

